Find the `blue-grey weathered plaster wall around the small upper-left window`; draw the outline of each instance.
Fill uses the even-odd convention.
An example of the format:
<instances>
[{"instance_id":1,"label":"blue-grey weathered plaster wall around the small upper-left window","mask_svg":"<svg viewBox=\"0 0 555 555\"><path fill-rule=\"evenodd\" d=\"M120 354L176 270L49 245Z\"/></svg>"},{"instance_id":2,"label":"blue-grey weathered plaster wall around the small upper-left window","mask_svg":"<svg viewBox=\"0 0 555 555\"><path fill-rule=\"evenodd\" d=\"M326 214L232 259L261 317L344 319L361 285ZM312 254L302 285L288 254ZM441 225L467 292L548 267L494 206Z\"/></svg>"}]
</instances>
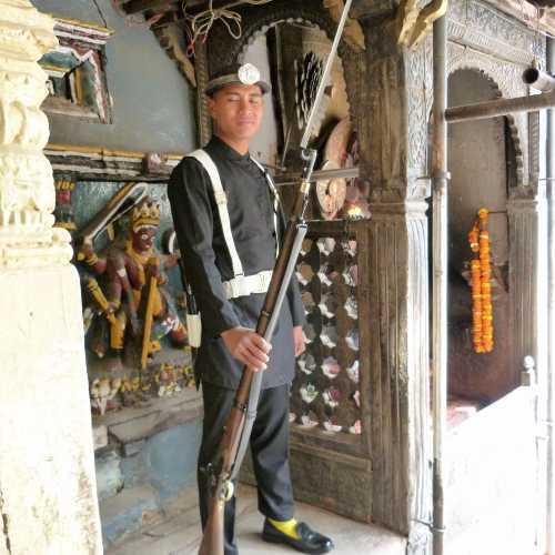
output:
<instances>
[{"instance_id":1,"label":"blue-grey weathered plaster wall around the small upper-left window","mask_svg":"<svg viewBox=\"0 0 555 555\"><path fill-rule=\"evenodd\" d=\"M195 147L194 91L149 29L130 28L109 0L33 0L40 11L107 26L108 89L113 123L84 123L49 114L50 141L154 152Z\"/></svg>"}]
</instances>

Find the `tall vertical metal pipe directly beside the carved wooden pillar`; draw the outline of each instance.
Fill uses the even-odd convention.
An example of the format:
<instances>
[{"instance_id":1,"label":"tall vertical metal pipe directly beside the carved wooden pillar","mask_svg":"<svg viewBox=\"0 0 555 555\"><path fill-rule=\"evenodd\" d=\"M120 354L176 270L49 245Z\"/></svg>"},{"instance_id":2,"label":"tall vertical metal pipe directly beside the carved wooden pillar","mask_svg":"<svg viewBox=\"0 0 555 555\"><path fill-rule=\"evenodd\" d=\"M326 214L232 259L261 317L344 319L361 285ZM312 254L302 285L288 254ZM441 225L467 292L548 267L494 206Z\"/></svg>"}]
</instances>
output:
<instances>
[{"instance_id":1,"label":"tall vertical metal pipe directly beside the carved wooden pillar","mask_svg":"<svg viewBox=\"0 0 555 555\"><path fill-rule=\"evenodd\" d=\"M447 18L434 22L434 109L433 109L433 537L434 555L444 553L443 446L447 423Z\"/></svg>"}]
</instances>

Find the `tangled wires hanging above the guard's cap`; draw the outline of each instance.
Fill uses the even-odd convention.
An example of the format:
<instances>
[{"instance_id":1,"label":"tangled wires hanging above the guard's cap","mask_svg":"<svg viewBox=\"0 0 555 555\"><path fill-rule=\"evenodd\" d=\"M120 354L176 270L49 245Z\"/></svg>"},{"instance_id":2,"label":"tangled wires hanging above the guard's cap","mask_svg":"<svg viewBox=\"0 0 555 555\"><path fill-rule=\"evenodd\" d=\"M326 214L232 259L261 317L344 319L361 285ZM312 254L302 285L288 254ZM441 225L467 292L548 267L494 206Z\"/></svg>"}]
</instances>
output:
<instances>
[{"instance_id":1,"label":"tangled wires hanging above the guard's cap","mask_svg":"<svg viewBox=\"0 0 555 555\"><path fill-rule=\"evenodd\" d=\"M189 44L188 44L188 53L192 56L194 53L194 44L199 39L202 41L206 40L208 33L212 29L212 26L215 21L220 20L228 29L228 32L235 40L240 39L243 34L243 29L241 26L241 13L233 10L241 4L250 4L250 6L262 6L271 2L272 0L241 0L230 2L221 8L213 7L213 0L209 0L208 10L201 11L196 14L188 13L186 4L188 0L183 0L182 9L183 16L188 22L190 28L189 34Z\"/></svg>"}]
</instances>

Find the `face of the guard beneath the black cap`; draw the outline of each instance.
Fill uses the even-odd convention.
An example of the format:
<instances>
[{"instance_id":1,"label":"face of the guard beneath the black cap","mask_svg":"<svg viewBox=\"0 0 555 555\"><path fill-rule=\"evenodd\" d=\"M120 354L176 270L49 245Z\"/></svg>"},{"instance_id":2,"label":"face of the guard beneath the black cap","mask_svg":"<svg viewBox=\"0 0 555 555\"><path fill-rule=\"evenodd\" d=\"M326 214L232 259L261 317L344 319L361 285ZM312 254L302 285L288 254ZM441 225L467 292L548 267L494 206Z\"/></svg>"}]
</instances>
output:
<instances>
[{"instance_id":1,"label":"face of the guard beneath the black cap","mask_svg":"<svg viewBox=\"0 0 555 555\"><path fill-rule=\"evenodd\" d=\"M260 128L264 104L259 85L229 84L209 98L208 107L221 137L249 140Z\"/></svg>"}]
</instances>

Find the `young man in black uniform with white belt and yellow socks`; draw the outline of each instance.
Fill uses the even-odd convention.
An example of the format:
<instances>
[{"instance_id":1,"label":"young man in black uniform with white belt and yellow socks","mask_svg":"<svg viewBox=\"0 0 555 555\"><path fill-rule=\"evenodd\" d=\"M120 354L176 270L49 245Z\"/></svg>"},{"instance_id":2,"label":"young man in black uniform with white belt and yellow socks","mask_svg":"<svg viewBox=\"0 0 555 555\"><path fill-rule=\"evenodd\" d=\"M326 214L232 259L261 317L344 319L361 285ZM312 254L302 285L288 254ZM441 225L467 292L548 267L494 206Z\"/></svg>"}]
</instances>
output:
<instances>
[{"instance_id":1,"label":"young man in black uniform with white belt and yellow socks","mask_svg":"<svg viewBox=\"0 0 555 555\"><path fill-rule=\"evenodd\" d=\"M278 193L249 154L269 85L252 64L229 68L208 84L214 135L185 157L170 179L168 194L178 242L202 319L195 375L202 383L204 421L199 454L202 525L208 518L206 465L216 454L243 365L264 372L251 435L263 539L303 553L327 553L330 538L293 517L289 467L289 390L294 359L304 350L304 310L292 281L268 344L253 329L283 236ZM225 555L236 555L235 498L225 504Z\"/></svg>"}]
</instances>

